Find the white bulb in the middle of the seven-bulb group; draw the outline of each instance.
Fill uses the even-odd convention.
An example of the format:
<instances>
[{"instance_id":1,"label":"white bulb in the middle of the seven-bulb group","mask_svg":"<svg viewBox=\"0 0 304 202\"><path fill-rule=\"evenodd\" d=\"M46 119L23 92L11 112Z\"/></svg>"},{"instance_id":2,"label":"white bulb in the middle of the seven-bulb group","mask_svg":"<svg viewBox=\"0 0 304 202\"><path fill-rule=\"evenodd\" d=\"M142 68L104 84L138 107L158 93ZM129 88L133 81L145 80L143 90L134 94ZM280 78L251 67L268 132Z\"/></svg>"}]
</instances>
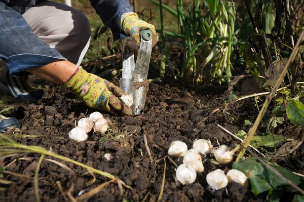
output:
<instances>
[{"instance_id":1,"label":"white bulb in the middle of the seven-bulb group","mask_svg":"<svg viewBox=\"0 0 304 202\"><path fill-rule=\"evenodd\" d=\"M203 166L203 163L202 163L202 156L195 149L188 150L185 153L182 162L184 164L187 164L187 165L191 166L197 173L204 172L204 166Z\"/></svg>"}]
</instances>

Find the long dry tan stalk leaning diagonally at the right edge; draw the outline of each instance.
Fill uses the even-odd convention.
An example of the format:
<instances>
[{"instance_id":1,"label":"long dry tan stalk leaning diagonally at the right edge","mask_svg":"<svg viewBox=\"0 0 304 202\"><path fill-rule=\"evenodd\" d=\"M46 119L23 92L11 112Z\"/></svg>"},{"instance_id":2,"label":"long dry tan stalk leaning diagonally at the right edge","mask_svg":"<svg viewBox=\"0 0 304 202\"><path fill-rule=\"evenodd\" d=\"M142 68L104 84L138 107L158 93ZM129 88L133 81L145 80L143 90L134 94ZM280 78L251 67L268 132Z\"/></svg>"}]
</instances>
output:
<instances>
[{"instance_id":1,"label":"long dry tan stalk leaning diagonally at the right edge","mask_svg":"<svg viewBox=\"0 0 304 202\"><path fill-rule=\"evenodd\" d=\"M302 31L302 33L301 33L301 35L300 35L300 37L299 37L299 39L298 39L298 41L297 41L297 43L295 45L294 50L292 51L292 53L291 53L291 55L290 55L290 57L289 57L286 65L285 65L284 69L282 70L282 73L280 74L280 77L278 78L277 83L275 84L275 86L272 89L272 91L270 92L270 94L267 96L267 98L266 98L266 100L265 100L265 102L264 102L264 104L263 104L263 106L262 106L262 108L261 108L258 116L255 119L255 122L254 122L253 126L251 127L251 129L250 129L250 131L248 133L247 138L244 140L243 146L245 148L243 148L241 150L241 152L239 153L236 161L240 160L243 157L243 155L244 155L244 153L246 151L246 148L248 147L248 144L250 143L250 141L251 141L254 133L256 132L257 127L259 126L259 123L261 122L262 117L264 116L264 114L265 114L265 112L266 112L266 110L267 110L267 108L268 108L268 106L269 106L272 98L275 96L276 91L278 90L278 88L280 87L280 85L281 85L284 77L286 76L288 68L289 68L290 64L293 62L294 58L296 57L296 55L298 53L298 50L299 50L299 47L300 47L300 45L302 44L303 41L304 41L304 30Z\"/></svg>"}]
</instances>

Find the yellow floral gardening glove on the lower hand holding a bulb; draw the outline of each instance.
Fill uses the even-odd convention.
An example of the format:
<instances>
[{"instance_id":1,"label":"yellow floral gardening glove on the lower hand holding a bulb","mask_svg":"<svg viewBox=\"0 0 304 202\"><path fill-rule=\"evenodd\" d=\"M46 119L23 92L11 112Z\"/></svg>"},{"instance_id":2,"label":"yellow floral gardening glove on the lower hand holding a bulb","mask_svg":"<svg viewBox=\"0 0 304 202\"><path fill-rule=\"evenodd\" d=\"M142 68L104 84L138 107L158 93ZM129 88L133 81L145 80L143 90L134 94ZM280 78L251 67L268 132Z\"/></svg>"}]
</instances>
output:
<instances>
[{"instance_id":1,"label":"yellow floral gardening glove on the lower hand holding a bulb","mask_svg":"<svg viewBox=\"0 0 304 202\"><path fill-rule=\"evenodd\" d=\"M122 95L128 95L128 93L107 80L88 73L81 66L63 87L71 89L89 107L111 113L132 114L130 107L118 98Z\"/></svg>"}]
</instances>

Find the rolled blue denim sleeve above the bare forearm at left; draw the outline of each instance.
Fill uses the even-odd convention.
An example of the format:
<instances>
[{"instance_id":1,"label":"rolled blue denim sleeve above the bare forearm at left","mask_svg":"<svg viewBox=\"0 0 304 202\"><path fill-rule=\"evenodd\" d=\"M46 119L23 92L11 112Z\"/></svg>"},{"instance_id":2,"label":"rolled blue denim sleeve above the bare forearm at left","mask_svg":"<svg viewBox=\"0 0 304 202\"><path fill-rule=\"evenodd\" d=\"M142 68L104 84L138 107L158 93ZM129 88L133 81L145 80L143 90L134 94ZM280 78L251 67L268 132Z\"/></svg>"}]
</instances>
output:
<instances>
[{"instance_id":1,"label":"rolled blue denim sleeve above the bare forearm at left","mask_svg":"<svg viewBox=\"0 0 304 202\"><path fill-rule=\"evenodd\" d=\"M12 75L28 75L27 69L66 60L32 32L20 13L2 2L0 27L0 59L7 63Z\"/></svg>"}]
</instances>

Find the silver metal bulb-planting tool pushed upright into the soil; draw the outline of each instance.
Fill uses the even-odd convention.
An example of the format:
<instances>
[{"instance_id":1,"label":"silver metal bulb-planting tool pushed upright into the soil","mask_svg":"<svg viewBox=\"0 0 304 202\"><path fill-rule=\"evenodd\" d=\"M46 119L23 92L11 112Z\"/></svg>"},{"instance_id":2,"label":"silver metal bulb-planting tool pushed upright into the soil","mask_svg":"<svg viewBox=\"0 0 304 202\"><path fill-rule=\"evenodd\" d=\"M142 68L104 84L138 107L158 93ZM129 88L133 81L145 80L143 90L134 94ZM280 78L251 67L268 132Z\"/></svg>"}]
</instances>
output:
<instances>
[{"instance_id":1,"label":"silver metal bulb-planting tool pushed upright into the soil","mask_svg":"<svg viewBox=\"0 0 304 202\"><path fill-rule=\"evenodd\" d=\"M149 88L147 81L148 69L151 57L152 32L143 30L140 32L141 41L136 63L134 51L124 43L123 49L123 76L121 78L121 89L131 94L133 114L138 115L144 108L146 94Z\"/></svg>"}]
</instances>

